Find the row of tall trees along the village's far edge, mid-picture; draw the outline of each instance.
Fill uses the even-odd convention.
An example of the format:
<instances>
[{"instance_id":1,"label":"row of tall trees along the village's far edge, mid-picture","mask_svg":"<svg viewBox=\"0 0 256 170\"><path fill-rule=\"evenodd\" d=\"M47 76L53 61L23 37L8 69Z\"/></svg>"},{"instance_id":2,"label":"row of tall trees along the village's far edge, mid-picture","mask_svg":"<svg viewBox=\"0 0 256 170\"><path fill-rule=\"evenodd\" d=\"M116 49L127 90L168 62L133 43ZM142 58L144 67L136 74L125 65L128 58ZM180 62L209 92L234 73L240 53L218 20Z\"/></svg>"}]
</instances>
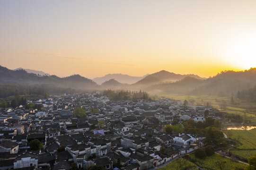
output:
<instances>
[{"instance_id":1,"label":"row of tall trees along the village's far edge, mid-picture","mask_svg":"<svg viewBox=\"0 0 256 170\"><path fill-rule=\"evenodd\" d=\"M132 99L148 99L149 94L147 92L138 91L114 91L114 90L104 90L103 95L106 95L111 100L132 100Z\"/></svg>"}]
</instances>

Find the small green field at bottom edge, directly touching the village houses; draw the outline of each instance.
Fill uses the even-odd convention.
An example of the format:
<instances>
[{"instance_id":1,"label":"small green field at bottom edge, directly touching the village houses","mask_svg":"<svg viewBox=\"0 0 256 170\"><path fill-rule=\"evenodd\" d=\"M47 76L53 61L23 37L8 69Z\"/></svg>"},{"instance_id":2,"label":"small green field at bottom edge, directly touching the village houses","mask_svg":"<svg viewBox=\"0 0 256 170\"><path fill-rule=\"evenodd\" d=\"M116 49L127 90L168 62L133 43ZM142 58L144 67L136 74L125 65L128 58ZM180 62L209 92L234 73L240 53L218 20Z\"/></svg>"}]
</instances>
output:
<instances>
[{"instance_id":1,"label":"small green field at bottom edge, directly touching the village houses","mask_svg":"<svg viewBox=\"0 0 256 170\"><path fill-rule=\"evenodd\" d=\"M186 163L182 164L182 166L180 167L178 160L169 163L163 168L159 168L159 170L187 170L188 168L189 170L197 170L196 165L194 165L194 163L190 161L186 161Z\"/></svg>"}]
</instances>

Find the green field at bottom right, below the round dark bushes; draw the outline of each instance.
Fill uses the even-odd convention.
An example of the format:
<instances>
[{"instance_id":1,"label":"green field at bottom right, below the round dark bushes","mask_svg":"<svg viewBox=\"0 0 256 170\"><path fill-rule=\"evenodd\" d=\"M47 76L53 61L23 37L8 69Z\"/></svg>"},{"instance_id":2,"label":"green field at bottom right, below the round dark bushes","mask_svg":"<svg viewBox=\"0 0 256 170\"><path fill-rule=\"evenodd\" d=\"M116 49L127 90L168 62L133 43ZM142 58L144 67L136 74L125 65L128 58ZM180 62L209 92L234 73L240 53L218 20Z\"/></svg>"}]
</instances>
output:
<instances>
[{"instance_id":1,"label":"green field at bottom right, below the round dark bushes","mask_svg":"<svg viewBox=\"0 0 256 170\"><path fill-rule=\"evenodd\" d=\"M236 169L243 169L246 170L247 166L244 163L231 161L229 158L223 157L217 153L212 156L208 156L205 159L197 159L195 158L194 154L191 155L191 160L205 170L220 170L220 167L216 164L216 161L225 161L224 163L224 170L236 170Z\"/></svg>"}]
</instances>

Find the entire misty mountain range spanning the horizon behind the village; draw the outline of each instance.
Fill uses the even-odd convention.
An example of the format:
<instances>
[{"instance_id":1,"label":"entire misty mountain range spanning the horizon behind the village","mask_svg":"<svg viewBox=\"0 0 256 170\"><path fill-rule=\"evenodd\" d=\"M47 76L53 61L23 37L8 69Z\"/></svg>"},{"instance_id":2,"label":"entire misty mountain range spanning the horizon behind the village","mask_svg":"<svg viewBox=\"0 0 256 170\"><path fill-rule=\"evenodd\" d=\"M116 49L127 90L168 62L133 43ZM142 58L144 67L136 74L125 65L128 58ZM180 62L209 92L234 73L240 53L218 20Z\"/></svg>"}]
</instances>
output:
<instances>
[{"instance_id":1,"label":"entire misty mountain range spanning the horizon behind the village","mask_svg":"<svg viewBox=\"0 0 256 170\"><path fill-rule=\"evenodd\" d=\"M121 74L112 74L123 77ZM128 76L128 75L124 75ZM106 75L111 77L111 75ZM112 76L113 77L113 76ZM129 76L132 77L132 76ZM101 77L102 78L102 77ZM0 66L1 84L19 84L29 86L55 86L71 88L75 90L144 90L152 94L211 94L227 96L231 93L237 93L243 89L248 89L256 85L256 68L245 71L223 71L210 78L202 78L197 75L180 75L162 70L157 73L141 77L133 84L121 83L115 78L108 79L101 85L95 81L80 75L68 77L58 76L38 76L34 73L28 73L23 69L10 70ZM139 79L139 77L137 77ZM132 79L132 78L131 78ZM98 79L102 81L103 79ZM134 82L134 79L132 79ZM130 83L132 82L130 81Z\"/></svg>"}]
</instances>

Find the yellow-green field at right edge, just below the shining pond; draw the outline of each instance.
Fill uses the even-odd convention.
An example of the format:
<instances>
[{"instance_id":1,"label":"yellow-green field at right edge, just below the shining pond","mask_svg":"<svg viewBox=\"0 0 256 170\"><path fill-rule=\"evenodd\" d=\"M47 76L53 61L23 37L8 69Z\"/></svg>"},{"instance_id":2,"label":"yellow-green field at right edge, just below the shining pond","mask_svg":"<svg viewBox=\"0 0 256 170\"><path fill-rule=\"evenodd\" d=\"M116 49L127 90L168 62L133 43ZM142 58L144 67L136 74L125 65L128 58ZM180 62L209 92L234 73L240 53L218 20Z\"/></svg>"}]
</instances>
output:
<instances>
[{"instance_id":1,"label":"yellow-green field at right edge, just below the shining pond","mask_svg":"<svg viewBox=\"0 0 256 170\"><path fill-rule=\"evenodd\" d=\"M225 133L231 139L237 140L241 144L234 150L231 150L230 153L246 160L256 154L256 129L226 130Z\"/></svg>"}]
</instances>

